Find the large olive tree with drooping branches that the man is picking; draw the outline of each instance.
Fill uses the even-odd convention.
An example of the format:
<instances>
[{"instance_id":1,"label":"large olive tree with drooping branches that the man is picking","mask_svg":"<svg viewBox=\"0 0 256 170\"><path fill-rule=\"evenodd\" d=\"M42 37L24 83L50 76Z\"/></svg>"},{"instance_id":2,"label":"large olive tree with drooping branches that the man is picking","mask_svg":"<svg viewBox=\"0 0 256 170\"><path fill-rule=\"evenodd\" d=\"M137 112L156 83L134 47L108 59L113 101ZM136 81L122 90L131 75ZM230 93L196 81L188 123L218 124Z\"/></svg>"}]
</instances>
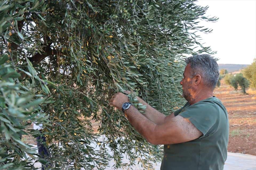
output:
<instances>
[{"instance_id":1,"label":"large olive tree with drooping branches that the man is picking","mask_svg":"<svg viewBox=\"0 0 256 170\"><path fill-rule=\"evenodd\" d=\"M164 114L181 106L181 59L214 53L197 35L212 31L201 20L217 20L204 16L207 8L194 0L1 1L1 168L34 168L36 151L20 140L38 135L28 128L33 121L44 124L51 155L39 161L55 169L160 160L161 147L145 141L109 99L133 90Z\"/></svg>"}]
</instances>

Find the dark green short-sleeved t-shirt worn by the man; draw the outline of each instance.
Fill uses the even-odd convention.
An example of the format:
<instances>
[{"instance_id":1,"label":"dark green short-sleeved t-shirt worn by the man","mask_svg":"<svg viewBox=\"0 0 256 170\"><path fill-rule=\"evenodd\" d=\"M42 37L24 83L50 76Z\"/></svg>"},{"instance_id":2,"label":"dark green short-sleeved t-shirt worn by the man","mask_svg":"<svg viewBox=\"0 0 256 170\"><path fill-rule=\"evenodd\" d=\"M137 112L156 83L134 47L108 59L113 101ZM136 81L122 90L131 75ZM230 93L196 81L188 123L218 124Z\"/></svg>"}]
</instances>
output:
<instances>
[{"instance_id":1,"label":"dark green short-sleeved t-shirt worn by the man","mask_svg":"<svg viewBox=\"0 0 256 170\"><path fill-rule=\"evenodd\" d=\"M190 120L203 133L195 140L164 146L161 170L219 170L227 159L229 120L216 97L193 105L186 103L174 112Z\"/></svg>"}]
</instances>

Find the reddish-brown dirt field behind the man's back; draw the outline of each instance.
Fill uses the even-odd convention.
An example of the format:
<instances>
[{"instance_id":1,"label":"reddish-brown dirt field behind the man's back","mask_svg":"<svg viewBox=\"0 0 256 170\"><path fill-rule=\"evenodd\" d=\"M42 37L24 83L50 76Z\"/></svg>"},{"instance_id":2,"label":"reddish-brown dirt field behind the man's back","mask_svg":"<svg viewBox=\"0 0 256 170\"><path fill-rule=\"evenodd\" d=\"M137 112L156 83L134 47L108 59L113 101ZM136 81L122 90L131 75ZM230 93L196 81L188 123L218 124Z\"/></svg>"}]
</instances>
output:
<instances>
[{"instance_id":1,"label":"reddish-brown dirt field behind the man's back","mask_svg":"<svg viewBox=\"0 0 256 170\"><path fill-rule=\"evenodd\" d=\"M243 95L241 90L225 84L214 90L229 115L228 151L256 155L256 92L248 90L247 93Z\"/></svg>"}]
</instances>

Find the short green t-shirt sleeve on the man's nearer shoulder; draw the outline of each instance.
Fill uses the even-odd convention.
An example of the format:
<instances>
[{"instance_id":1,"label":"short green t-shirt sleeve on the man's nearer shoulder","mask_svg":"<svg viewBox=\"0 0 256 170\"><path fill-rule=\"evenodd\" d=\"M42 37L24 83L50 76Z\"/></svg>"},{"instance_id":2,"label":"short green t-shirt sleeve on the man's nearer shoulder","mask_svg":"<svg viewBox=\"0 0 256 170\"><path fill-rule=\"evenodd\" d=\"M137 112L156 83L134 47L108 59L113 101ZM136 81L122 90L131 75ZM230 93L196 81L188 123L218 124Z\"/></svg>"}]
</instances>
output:
<instances>
[{"instance_id":1,"label":"short green t-shirt sleeve on the man's nearer shoulder","mask_svg":"<svg viewBox=\"0 0 256 170\"><path fill-rule=\"evenodd\" d=\"M202 137L205 137L213 125L219 122L219 108L212 101L195 103L185 108L179 115L188 119L201 131L203 133Z\"/></svg>"}]
</instances>

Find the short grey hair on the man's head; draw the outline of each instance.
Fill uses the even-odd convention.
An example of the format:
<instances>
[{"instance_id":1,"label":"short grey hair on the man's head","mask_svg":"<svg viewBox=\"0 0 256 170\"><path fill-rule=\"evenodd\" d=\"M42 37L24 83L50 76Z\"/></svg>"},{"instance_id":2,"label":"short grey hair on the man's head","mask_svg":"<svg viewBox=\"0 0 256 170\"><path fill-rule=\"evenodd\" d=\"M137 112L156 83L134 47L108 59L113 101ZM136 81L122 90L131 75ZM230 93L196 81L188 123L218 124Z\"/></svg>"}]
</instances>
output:
<instances>
[{"instance_id":1,"label":"short grey hair on the man's head","mask_svg":"<svg viewBox=\"0 0 256 170\"><path fill-rule=\"evenodd\" d=\"M193 70L191 77L199 74L203 81L210 88L214 89L219 79L219 66L217 59L211 57L209 54L199 54L186 58L186 63L190 63Z\"/></svg>"}]
</instances>

